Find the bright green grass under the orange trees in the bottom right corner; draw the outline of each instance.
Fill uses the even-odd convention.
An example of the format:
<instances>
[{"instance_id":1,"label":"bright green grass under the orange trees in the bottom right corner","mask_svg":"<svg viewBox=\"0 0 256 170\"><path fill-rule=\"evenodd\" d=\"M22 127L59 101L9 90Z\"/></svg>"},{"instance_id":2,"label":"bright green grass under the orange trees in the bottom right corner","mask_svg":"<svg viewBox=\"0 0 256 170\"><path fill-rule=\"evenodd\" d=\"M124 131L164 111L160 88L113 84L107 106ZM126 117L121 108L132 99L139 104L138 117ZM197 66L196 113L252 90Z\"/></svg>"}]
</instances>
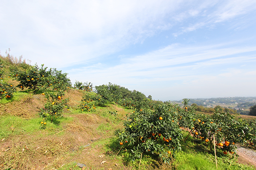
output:
<instances>
[{"instance_id":1,"label":"bright green grass under the orange trees in the bottom right corner","mask_svg":"<svg viewBox=\"0 0 256 170\"><path fill-rule=\"evenodd\" d=\"M183 133L183 136L186 136ZM215 156L209 146L202 140L192 136L181 145L182 151L177 153L174 167L177 170L216 170ZM247 165L236 163L236 157L224 156L221 150L217 150L218 170L254 170Z\"/></svg>"}]
</instances>

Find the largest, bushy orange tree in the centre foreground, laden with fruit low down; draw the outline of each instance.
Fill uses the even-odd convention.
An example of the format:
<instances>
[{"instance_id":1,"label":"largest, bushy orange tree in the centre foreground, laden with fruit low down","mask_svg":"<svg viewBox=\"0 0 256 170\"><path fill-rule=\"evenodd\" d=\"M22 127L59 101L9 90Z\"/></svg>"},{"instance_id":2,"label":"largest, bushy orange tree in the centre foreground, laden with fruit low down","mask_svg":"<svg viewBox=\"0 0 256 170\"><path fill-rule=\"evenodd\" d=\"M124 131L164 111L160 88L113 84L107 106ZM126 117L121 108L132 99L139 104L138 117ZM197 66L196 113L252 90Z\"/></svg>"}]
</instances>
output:
<instances>
[{"instance_id":1,"label":"largest, bushy orange tree in the centre foreground, laden with fruit low down","mask_svg":"<svg viewBox=\"0 0 256 170\"><path fill-rule=\"evenodd\" d=\"M148 110L143 102L124 121L125 129L119 133L119 142L133 159L142 154L153 154L169 163L180 148L183 138L177 120L178 105L166 103L155 111Z\"/></svg>"}]
</instances>

